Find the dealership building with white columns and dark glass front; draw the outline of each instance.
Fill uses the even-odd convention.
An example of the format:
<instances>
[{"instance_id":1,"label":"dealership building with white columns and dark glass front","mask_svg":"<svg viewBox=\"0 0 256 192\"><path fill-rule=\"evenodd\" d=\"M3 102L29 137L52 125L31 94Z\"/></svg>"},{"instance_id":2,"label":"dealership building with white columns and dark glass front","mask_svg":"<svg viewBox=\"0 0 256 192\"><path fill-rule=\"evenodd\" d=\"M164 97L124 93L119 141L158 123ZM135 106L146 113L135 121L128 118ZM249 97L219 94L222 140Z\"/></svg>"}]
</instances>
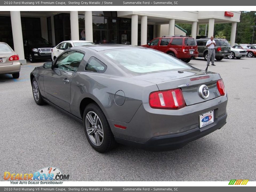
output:
<instances>
[{"instance_id":1,"label":"dealership building with white columns and dark glass front","mask_svg":"<svg viewBox=\"0 0 256 192\"><path fill-rule=\"evenodd\" d=\"M235 43L240 11L0 11L0 41L24 58L23 40L43 37L53 46L66 40L143 45L162 35L186 35L179 23L190 23L196 38L199 25L207 24L208 37L215 23L232 23ZM190 35L190 34L187 34Z\"/></svg>"}]
</instances>

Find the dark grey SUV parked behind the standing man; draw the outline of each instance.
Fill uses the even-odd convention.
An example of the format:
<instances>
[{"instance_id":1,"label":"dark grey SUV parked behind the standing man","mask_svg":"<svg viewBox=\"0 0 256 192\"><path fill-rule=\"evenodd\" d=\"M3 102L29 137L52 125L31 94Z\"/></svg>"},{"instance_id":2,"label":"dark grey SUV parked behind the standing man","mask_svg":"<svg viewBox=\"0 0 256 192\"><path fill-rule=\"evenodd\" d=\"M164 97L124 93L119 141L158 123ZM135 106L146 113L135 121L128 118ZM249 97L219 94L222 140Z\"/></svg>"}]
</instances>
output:
<instances>
[{"instance_id":1,"label":"dark grey SUV parked behind the standing man","mask_svg":"<svg viewBox=\"0 0 256 192\"><path fill-rule=\"evenodd\" d=\"M198 51L198 57L204 57L205 61L207 61L208 56L208 48L206 47L206 43L210 38L200 38L196 39L197 41L197 51ZM230 51L230 45L229 42L226 39L213 39L216 43L215 46L215 59L220 61L223 59L223 57L227 57L231 55Z\"/></svg>"}]
</instances>

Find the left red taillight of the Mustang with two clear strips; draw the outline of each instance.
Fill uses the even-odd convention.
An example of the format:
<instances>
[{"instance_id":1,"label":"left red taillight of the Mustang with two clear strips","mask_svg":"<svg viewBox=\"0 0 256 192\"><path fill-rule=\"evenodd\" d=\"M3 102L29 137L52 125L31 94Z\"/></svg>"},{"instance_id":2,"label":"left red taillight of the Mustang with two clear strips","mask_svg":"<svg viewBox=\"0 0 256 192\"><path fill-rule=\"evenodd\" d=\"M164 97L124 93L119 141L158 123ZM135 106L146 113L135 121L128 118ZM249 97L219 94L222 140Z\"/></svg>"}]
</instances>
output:
<instances>
[{"instance_id":1,"label":"left red taillight of the Mustang with two clear strips","mask_svg":"<svg viewBox=\"0 0 256 192\"><path fill-rule=\"evenodd\" d=\"M152 108L163 109L179 109L186 106L181 89L171 89L150 93L149 105Z\"/></svg>"}]
</instances>

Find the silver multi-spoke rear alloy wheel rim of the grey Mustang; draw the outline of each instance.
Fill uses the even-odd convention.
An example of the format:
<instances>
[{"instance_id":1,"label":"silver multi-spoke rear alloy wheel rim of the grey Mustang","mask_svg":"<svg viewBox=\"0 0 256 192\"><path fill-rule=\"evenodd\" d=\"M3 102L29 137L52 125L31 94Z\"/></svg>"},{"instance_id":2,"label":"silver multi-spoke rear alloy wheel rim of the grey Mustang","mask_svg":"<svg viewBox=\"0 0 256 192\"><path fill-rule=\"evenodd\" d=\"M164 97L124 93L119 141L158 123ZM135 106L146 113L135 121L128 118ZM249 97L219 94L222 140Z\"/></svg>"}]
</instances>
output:
<instances>
[{"instance_id":1,"label":"silver multi-spoke rear alloy wheel rim of the grey Mustang","mask_svg":"<svg viewBox=\"0 0 256 192\"><path fill-rule=\"evenodd\" d=\"M98 115L93 111L89 111L85 119L86 133L88 134L91 142L100 146L103 142L104 133L101 120Z\"/></svg>"}]
</instances>

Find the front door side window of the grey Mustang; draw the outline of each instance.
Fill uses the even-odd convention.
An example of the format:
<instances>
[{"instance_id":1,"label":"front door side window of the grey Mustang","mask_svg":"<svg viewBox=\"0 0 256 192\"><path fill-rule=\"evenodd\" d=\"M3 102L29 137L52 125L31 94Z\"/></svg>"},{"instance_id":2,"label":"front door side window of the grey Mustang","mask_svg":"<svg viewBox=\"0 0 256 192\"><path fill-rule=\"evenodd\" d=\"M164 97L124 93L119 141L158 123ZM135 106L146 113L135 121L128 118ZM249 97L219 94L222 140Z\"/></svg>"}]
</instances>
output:
<instances>
[{"instance_id":1,"label":"front door side window of the grey Mustang","mask_svg":"<svg viewBox=\"0 0 256 192\"><path fill-rule=\"evenodd\" d=\"M84 54L81 52L68 51L58 58L54 68L75 72L82 61L83 56Z\"/></svg>"}]
</instances>

